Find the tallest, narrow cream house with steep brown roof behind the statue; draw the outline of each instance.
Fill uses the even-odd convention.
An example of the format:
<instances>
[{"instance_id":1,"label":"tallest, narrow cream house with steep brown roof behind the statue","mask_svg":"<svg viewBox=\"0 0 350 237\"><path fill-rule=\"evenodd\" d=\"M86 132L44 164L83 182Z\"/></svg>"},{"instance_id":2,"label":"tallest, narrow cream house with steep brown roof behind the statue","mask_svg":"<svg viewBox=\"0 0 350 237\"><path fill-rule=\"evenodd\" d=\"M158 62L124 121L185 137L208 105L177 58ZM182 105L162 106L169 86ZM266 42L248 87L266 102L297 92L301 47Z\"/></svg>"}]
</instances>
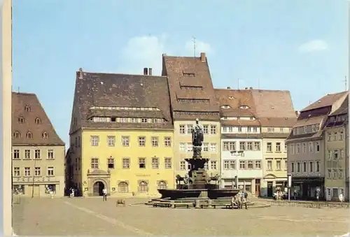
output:
<instances>
[{"instance_id":1,"label":"tallest, narrow cream house with steep brown roof behind the statue","mask_svg":"<svg viewBox=\"0 0 350 237\"><path fill-rule=\"evenodd\" d=\"M204 129L202 157L209 175L221 174L220 115L204 52L200 57L162 56L162 76L167 76L174 120L175 173L185 175L190 167L186 158L193 155L191 129L195 119Z\"/></svg>"}]
</instances>

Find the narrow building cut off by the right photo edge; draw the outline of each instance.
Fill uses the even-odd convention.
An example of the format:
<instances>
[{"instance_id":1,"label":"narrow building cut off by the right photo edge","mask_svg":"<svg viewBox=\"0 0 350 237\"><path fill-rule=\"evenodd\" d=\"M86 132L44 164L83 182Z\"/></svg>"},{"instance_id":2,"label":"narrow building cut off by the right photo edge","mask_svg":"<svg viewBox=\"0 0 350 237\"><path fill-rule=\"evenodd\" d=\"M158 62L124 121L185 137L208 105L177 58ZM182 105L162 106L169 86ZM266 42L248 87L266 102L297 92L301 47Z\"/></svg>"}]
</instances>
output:
<instances>
[{"instance_id":1,"label":"narrow building cut off by the right photo edge","mask_svg":"<svg viewBox=\"0 0 350 237\"><path fill-rule=\"evenodd\" d=\"M339 194L349 199L346 187L346 169L349 159L346 153L346 122L348 121L349 99L346 97L342 106L328 116L324 128L325 141L325 199L338 201Z\"/></svg>"}]
</instances>

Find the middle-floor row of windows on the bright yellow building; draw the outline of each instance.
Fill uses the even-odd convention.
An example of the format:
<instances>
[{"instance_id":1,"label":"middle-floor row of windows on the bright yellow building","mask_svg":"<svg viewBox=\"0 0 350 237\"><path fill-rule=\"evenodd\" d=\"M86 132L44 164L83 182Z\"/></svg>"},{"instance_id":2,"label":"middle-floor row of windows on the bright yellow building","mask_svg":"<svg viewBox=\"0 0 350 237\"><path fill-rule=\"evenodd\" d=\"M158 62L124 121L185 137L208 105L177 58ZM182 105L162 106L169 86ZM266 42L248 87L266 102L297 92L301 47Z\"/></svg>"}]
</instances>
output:
<instances>
[{"instance_id":1,"label":"middle-floor row of windows on the bright yellow building","mask_svg":"<svg viewBox=\"0 0 350 237\"><path fill-rule=\"evenodd\" d=\"M138 166L139 168L147 168L147 158L146 157L139 157L138 160ZM171 157L165 157L164 158L164 168L170 169L172 168L172 158ZM131 165L130 158L129 157L123 157L121 159L121 168L129 169ZM109 169L116 168L116 162L113 157L107 158L107 167ZM92 157L91 158L91 168L92 169L99 169L101 168L99 164L99 158ZM159 157L152 157L151 158L151 168L158 169L160 168L160 158Z\"/></svg>"}]
</instances>

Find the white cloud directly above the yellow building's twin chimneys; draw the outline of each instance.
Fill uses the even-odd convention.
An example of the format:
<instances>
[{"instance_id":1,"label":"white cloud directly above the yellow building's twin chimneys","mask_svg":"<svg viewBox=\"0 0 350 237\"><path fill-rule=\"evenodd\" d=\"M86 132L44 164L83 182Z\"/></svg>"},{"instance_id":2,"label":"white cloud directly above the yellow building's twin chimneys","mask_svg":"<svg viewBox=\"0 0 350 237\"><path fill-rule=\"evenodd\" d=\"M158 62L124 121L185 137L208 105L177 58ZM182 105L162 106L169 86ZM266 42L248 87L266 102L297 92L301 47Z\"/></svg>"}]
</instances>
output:
<instances>
[{"instance_id":1,"label":"white cloud directly above the yellow building's twin chimneys","mask_svg":"<svg viewBox=\"0 0 350 237\"><path fill-rule=\"evenodd\" d=\"M123 65L120 73L141 74L145 67L152 68L154 75L162 72L162 54L166 52L167 36L136 36L127 41L123 49Z\"/></svg>"}]
</instances>

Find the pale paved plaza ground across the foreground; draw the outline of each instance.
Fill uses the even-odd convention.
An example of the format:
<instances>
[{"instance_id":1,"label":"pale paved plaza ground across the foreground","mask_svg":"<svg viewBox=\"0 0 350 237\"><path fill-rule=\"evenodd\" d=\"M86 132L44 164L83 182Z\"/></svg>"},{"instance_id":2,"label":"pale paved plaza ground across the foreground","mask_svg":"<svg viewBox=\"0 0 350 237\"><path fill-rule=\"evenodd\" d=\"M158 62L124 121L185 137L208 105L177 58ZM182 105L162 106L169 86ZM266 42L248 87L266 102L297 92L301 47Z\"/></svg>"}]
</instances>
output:
<instances>
[{"instance_id":1,"label":"pale paved plaza ground across the foreground","mask_svg":"<svg viewBox=\"0 0 350 237\"><path fill-rule=\"evenodd\" d=\"M146 199L127 199L127 204ZM22 199L20 236L334 236L349 232L349 210L271 206L248 210L116 207L116 199Z\"/></svg>"}]
</instances>

